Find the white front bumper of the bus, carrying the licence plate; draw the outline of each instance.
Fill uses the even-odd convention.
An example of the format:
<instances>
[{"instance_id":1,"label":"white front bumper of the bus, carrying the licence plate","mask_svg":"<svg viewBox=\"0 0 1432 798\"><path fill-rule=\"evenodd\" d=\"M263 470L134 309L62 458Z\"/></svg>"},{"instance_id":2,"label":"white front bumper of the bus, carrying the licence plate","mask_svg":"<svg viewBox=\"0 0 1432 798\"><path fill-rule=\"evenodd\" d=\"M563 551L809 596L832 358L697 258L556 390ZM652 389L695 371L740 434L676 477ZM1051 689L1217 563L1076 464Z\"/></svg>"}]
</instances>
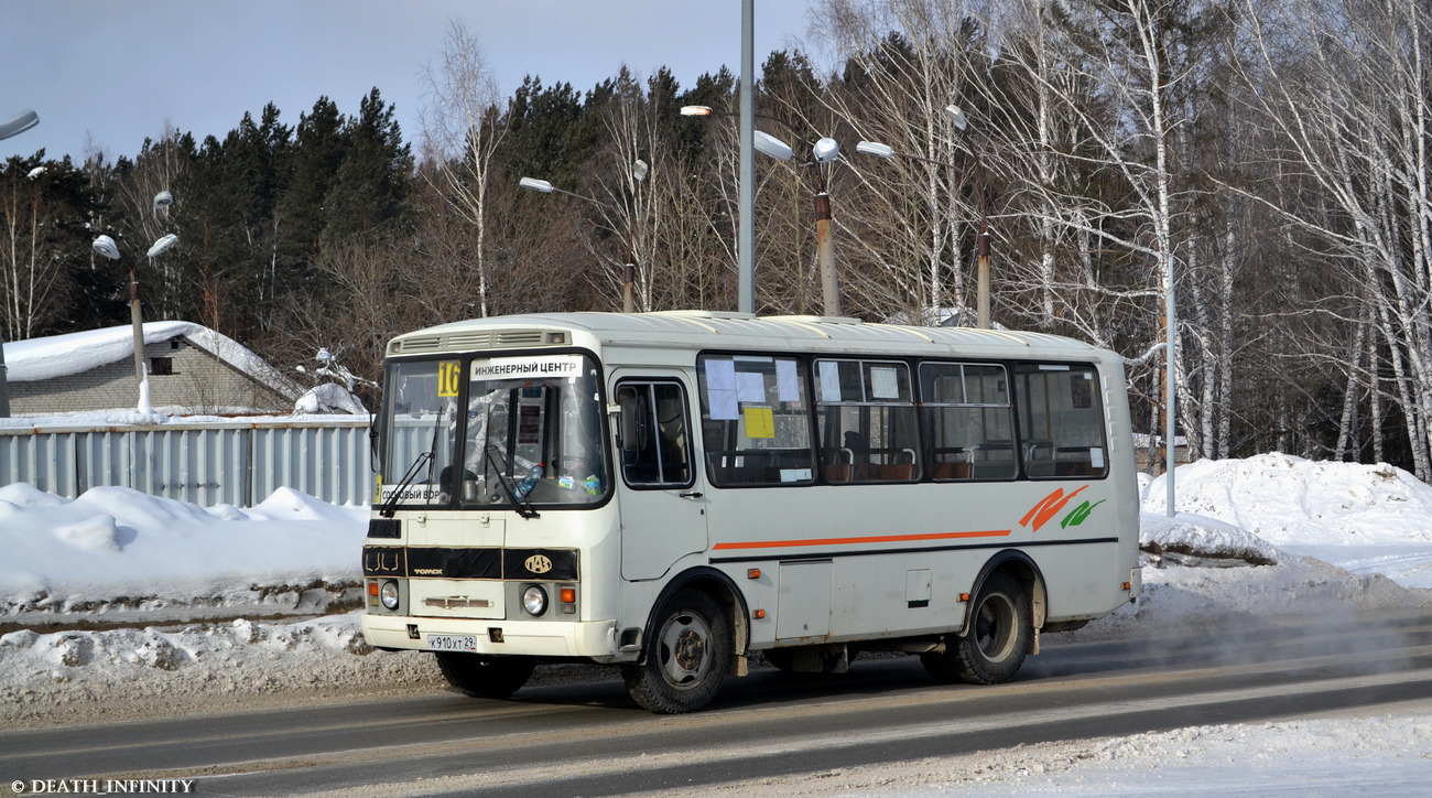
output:
<instances>
[{"instance_id":1,"label":"white front bumper of the bus, carrying the licence plate","mask_svg":"<svg viewBox=\"0 0 1432 798\"><path fill-rule=\"evenodd\" d=\"M463 620L362 615L364 639L379 649L600 659L617 653L616 629L614 620Z\"/></svg>"}]
</instances>

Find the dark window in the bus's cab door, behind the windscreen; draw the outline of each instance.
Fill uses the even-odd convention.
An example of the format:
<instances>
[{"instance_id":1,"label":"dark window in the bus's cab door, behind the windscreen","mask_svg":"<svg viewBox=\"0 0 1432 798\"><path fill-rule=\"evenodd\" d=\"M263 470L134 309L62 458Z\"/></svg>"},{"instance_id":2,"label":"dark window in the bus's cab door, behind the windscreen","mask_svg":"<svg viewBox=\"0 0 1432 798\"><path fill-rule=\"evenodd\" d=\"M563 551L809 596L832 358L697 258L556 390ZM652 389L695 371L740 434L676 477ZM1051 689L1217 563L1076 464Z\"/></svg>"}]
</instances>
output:
<instances>
[{"instance_id":1,"label":"dark window in the bus's cab door, behind the windscreen","mask_svg":"<svg viewBox=\"0 0 1432 798\"><path fill-rule=\"evenodd\" d=\"M632 487L692 484L686 394L677 383L617 385L621 479Z\"/></svg>"}]
</instances>

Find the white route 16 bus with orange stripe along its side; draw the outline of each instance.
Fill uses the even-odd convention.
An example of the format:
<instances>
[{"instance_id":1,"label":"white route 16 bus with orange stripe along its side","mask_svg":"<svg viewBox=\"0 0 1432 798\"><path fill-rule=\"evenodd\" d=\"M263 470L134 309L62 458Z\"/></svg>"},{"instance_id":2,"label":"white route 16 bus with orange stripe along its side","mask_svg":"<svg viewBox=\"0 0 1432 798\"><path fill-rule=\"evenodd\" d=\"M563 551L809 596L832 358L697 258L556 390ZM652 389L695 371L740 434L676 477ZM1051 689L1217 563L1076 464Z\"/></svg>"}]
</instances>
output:
<instances>
[{"instance_id":1,"label":"white route 16 bus with orange stripe along its side","mask_svg":"<svg viewBox=\"0 0 1432 798\"><path fill-rule=\"evenodd\" d=\"M1140 589L1123 361L1068 338L516 315L385 368L362 630L473 696L597 662L690 712L753 652L995 683Z\"/></svg>"}]
</instances>

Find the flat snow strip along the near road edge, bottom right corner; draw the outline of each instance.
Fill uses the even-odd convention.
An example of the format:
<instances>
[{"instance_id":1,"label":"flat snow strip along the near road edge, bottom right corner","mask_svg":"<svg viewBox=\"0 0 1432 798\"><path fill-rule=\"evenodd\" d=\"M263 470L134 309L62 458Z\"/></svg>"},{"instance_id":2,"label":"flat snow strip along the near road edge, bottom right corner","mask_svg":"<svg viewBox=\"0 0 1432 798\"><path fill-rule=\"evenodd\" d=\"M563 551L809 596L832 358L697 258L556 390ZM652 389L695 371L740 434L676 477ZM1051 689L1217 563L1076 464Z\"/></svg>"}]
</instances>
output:
<instances>
[{"instance_id":1,"label":"flat snow strip along the near road edge, bottom right corner","mask_svg":"<svg viewBox=\"0 0 1432 798\"><path fill-rule=\"evenodd\" d=\"M1190 726L1124 738L1017 745L742 787L743 795L1380 795L1421 797L1432 781L1432 716Z\"/></svg>"}]
</instances>

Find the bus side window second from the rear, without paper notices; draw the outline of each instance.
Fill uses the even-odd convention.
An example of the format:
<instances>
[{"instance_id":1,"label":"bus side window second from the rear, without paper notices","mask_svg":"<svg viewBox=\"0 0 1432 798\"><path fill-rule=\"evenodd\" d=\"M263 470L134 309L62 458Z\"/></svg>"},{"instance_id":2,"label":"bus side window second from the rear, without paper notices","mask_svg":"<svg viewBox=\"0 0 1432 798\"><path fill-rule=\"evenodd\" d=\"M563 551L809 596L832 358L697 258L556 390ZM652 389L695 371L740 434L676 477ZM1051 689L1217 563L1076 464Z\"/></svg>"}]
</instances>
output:
<instances>
[{"instance_id":1,"label":"bus side window second from the rear, without paper notices","mask_svg":"<svg viewBox=\"0 0 1432 798\"><path fill-rule=\"evenodd\" d=\"M1014 479L1018 463L1008 384L1002 365L919 364L931 479Z\"/></svg>"}]
</instances>

